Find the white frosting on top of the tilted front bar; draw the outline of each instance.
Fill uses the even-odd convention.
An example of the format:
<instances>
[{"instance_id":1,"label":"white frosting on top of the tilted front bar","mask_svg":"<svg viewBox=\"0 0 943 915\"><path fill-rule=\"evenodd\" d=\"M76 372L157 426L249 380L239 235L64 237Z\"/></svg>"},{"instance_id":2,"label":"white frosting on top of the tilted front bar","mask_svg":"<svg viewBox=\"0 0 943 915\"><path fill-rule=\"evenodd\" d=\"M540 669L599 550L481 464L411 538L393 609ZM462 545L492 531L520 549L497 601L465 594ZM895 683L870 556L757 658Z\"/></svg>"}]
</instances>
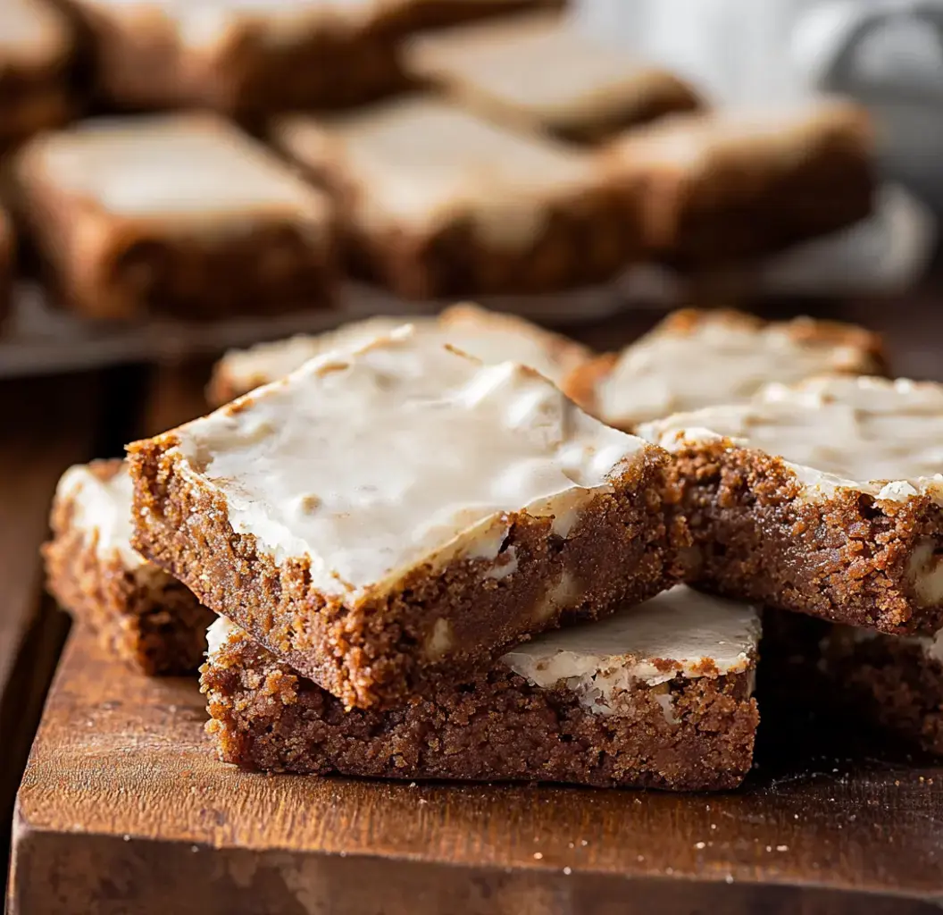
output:
<instances>
[{"instance_id":1,"label":"white frosting on top of the tilted front bar","mask_svg":"<svg viewBox=\"0 0 943 915\"><path fill-rule=\"evenodd\" d=\"M275 561L309 559L315 588L352 601L419 564L497 557L506 512L552 516L566 537L649 447L536 372L409 327L168 435L236 531Z\"/></svg>"}]
</instances>

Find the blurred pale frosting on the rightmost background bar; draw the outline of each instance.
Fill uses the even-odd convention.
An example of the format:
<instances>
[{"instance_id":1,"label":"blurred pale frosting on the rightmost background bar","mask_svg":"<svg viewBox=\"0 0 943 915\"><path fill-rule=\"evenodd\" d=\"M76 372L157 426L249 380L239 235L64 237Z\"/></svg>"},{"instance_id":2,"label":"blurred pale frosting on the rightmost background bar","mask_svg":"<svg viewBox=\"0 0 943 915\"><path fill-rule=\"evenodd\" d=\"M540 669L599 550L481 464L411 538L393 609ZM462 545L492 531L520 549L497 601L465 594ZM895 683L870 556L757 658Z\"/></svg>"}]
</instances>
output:
<instances>
[{"instance_id":1,"label":"blurred pale frosting on the rightmost background bar","mask_svg":"<svg viewBox=\"0 0 943 915\"><path fill-rule=\"evenodd\" d=\"M862 108L823 99L795 108L720 108L677 114L627 132L610 146L627 168L655 165L710 174L720 162L757 169L789 167L811 148L841 138L869 155L871 132Z\"/></svg>"}]
</instances>

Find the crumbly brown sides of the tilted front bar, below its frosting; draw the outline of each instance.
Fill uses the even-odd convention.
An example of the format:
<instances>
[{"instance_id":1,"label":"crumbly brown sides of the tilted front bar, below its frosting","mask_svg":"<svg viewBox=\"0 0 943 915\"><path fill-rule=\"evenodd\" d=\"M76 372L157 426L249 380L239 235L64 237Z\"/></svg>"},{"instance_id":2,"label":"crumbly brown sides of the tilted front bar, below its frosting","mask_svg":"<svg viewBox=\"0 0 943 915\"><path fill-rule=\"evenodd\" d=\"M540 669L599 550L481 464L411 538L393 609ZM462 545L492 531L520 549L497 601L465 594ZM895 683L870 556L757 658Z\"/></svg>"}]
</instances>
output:
<instances>
[{"instance_id":1,"label":"crumbly brown sides of the tilted front bar, below its frosting","mask_svg":"<svg viewBox=\"0 0 943 915\"><path fill-rule=\"evenodd\" d=\"M614 492L596 497L566 540L552 534L548 519L509 516L504 553L513 548L517 569L503 581L487 576L500 561L456 560L438 571L415 569L382 600L348 607L310 588L304 560L279 566L252 535L237 534L224 500L194 486L164 455L172 444L142 441L131 452L135 547L350 706L401 703L442 674L487 665L528 634L640 603L681 574L687 531L680 519L666 523L665 459L653 454ZM581 595L565 618L554 590ZM423 645L440 619L449 622L455 649L439 660Z\"/></svg>"}]
</instances>

